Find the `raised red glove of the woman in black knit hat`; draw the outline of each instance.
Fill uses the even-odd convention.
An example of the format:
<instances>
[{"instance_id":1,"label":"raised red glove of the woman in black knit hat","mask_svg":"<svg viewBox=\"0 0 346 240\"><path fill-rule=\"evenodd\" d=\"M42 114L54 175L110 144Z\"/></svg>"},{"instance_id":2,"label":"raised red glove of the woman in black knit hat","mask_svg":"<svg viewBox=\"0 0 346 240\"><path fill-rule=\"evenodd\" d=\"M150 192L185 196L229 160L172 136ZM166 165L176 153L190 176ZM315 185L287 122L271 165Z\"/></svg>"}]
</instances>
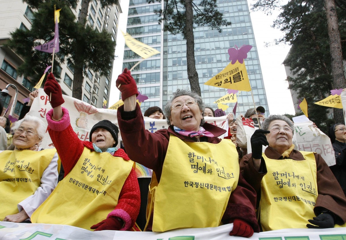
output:
<instances>
[{"instance_id":1,"label":"raised red glove of the woman in black knit hat","mask_svg":"<svg viewBox=\"0 0 346 240\"><path fill-rule=\"evenodd\" d=\"M63 94L61 92L61 87L55 80L53 73L48 74L43 90L48 95L48 97L50 97L49 102L51 103L52 108L60 106L65 102L65 100L63 99Z\"/></svg>"}]
</instances>

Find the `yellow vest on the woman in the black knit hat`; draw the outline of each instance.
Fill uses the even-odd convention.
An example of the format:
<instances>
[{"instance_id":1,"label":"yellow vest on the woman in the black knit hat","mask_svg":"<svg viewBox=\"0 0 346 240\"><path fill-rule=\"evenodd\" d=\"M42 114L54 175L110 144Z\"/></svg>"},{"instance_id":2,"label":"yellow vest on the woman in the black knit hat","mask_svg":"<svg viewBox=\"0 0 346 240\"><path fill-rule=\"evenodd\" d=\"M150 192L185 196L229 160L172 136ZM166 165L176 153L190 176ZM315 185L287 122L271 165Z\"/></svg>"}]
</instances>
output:
<instances>
[{"instance_id":1,"label":"yellow vest on the woman in the black knit hat","mask_svg":"<svg viewBox=\"0 0 346 240\"><path fill-rule=\"evenodd\" d=\"M84 147L76 165L33 213L31 222L91 230L118 204L132 166L133 161Z\"/></svg>"}]
</instances>

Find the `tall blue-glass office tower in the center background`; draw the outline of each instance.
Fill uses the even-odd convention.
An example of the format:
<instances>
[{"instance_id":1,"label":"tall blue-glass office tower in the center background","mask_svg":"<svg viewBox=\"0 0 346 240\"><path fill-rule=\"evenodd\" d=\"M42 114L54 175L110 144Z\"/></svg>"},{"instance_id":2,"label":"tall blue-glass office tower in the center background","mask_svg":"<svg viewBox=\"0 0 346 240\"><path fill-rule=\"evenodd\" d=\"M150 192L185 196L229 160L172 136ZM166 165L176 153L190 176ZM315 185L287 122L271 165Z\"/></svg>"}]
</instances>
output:
<instances>
[{"instance_id":1,"label":"tall blue-glass office tower in the center background","mask_svg":"<svg viewBox=\"0 0 346 240\"><path fill-rule=\"evenodd\" d=\"M130 0L129 4L127 32L161 52L146 59L131 71L139 91L149 97L141 105L142 112L155 105L162 108L176 89L190 88L186 65L186 41L181 34L172 35L164 32L163 26L157 22L158 15L154 10L163 8L163 4L164 1L148 4L146 0ZM245 64L255 104L263 106L268 115L268 104L247 1L219 0L218 10L232 23L231 26L223 26L221 33L205 26L196 26L194 29L195 64L202 98L206 106L217 109L217 104L213 102L227 94L227 89L203 83L229 64L229 48L244 44L252 45L253 48L247 54ZM125 47L123 68L129 69L138 61L140 57ZM226 112L232 111L234 103L230 106ZM251 107L253 107L251 93L241 92L238 96L238 111L244 114Z\"/></svg>"}]
</instances>

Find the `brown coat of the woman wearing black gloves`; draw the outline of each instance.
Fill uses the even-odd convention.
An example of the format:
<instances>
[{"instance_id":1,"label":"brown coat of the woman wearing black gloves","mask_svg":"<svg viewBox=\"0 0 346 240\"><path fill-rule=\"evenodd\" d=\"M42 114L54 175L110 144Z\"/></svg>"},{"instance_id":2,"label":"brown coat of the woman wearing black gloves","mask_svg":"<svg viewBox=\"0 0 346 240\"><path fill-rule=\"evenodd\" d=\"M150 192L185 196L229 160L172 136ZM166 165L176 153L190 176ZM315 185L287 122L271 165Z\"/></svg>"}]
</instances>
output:
<instances>
[{"instance_id":1,"label":"brown coat of the woman wearing black gloves","mask_svg":"<svg viewBox=\"0 0 346 240\"><path fill-rule=\"evenodd\" d=\"M264 154L270 159L283 159L281 154L275 151L272 147L267 147ZM288 158L298 161L304 160L303 155L297 150L293 150ZM345 195L321 155L315 153L315 159L317 167L318 196L313 211L317 216L324 208L328 209L335 214L335 223L342 225L346 222ZM240 162L240 169L242 170L244 178L255 188L257 192L258 203L261 199L261 181L263 176L267 173L267 168L263 159L261 161L261 167L262 169L260 169L260 172L255 169L252 154L245 155Z\"/></svg>"}]
</instances>

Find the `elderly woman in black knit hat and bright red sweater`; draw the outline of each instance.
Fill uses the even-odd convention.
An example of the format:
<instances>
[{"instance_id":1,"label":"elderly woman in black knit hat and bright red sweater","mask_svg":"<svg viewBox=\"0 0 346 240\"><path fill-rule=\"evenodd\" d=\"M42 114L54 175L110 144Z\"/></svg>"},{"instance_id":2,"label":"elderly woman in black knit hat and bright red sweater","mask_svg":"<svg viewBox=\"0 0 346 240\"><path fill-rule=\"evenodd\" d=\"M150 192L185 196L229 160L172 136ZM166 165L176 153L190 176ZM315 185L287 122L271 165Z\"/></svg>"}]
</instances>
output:
<instances>
[{"instance_id":1,"label":"elderly woman in black knit hat and bright red sweater","mask_svg":"<svg viewBox=\"0 0 346 240\"><path fill-rule=\"evenodd\" d=\"M33 223L65 224L84 229L130 230L140 207L133 161L118 149L118 127L108 120L96 123L90 141L73 131L69 111L62 108L60 85L52 73L45 93L53 107L48 132L65 169L64 179L34 212Z\"/></svg>"}]
</instances>

